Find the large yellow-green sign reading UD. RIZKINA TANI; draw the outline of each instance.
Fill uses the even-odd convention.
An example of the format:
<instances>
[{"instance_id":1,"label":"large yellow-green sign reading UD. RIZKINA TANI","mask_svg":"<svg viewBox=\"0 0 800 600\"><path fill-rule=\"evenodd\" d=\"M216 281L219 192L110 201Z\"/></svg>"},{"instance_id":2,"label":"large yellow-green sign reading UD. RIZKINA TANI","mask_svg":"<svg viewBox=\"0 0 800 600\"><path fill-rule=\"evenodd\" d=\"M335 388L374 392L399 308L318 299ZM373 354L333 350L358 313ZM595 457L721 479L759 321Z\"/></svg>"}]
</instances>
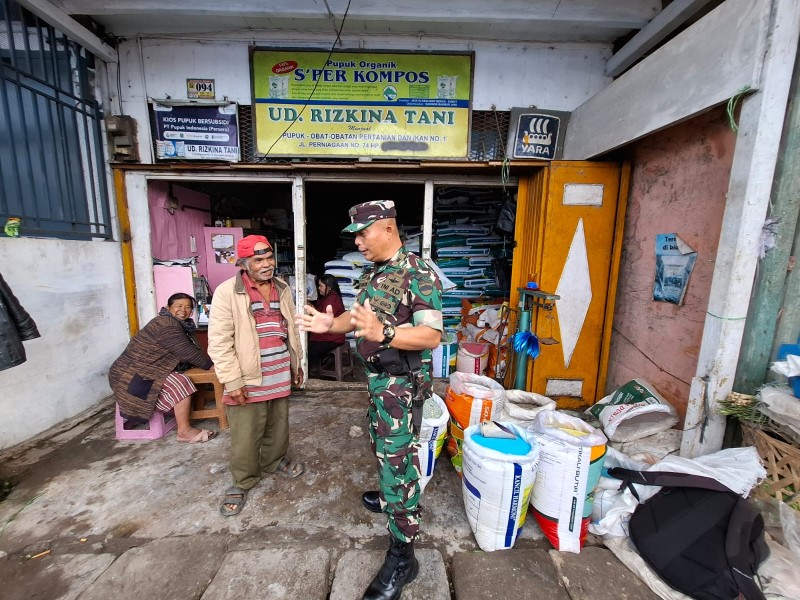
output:
<instances>
[{"instance_id":1,"label":"large yellow-green sign reading UD. RIZKINA TANI","mask_svg":"<svg viewBox=\"0 0 800 600\"><path fill-rule=\"evenodd\" d=\"M259 157L467 160L473 52L250 50Z\"/></svg>"}]
</instances>

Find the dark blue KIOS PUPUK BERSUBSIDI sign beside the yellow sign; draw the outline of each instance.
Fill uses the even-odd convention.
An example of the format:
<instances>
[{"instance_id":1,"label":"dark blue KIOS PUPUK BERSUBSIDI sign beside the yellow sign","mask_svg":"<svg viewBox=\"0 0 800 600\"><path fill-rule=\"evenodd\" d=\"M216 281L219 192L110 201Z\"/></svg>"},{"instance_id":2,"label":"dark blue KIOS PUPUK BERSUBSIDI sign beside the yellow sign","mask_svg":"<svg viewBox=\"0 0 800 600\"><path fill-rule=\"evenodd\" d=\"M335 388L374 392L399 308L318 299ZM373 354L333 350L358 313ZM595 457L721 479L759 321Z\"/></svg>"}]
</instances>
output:
<instances>
[{"instance_id":1,"label":"dark blue KIOS PUPUK BERSUBSIDI sign beside the yellow sign","mask_svg":"<svg viewBox=\"0 0 800 600\"><path fill-rule=\"evenodd\" d=\"M241 160L236 102L153 100L152 107L158 160Z\"/></svg>"}]
</instances>

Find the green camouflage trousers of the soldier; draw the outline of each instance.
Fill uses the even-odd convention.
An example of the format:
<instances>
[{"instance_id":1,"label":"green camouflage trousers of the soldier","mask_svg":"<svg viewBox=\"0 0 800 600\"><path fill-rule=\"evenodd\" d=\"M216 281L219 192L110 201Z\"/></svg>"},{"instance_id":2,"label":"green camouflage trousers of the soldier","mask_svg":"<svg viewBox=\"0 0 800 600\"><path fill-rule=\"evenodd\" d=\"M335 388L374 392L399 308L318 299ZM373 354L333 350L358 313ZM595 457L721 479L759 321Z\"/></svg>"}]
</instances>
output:
<instances>
[{"instance_id":1,"label":"green camouflage trousers of the soldier","mask_svg":"<svg viewBox=\"0 0 800 600\"><path fill-rule=\"evenodd\" d=\"M419 532L419 439L411 431L411 386L404 377L369 373L369 433L378 459L389 532L411 542Z\"/></svg>"}]
</instances>

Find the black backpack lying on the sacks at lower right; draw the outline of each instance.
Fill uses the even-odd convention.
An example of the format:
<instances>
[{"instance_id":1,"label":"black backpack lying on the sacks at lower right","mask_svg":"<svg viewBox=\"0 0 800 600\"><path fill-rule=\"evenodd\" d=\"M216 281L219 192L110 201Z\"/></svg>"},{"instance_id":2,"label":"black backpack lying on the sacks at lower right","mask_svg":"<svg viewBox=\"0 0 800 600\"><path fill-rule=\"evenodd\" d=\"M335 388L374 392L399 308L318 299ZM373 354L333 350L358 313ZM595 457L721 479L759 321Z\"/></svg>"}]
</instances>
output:
<instances>
[{"instance_id":1,"label":"black backpack lying on the sacks at lower right","mask_svg":"<svg viewBox=\"0 0 800 600\"><path fill-rule=\"evenodd\" d=\"M633 483L663 489L631 516L636 549L669 585L697 600L764 600L756 571L769 555L758 510L718 481L687 473L614 467L636 499Z\"/></svg>"}]
</instances>

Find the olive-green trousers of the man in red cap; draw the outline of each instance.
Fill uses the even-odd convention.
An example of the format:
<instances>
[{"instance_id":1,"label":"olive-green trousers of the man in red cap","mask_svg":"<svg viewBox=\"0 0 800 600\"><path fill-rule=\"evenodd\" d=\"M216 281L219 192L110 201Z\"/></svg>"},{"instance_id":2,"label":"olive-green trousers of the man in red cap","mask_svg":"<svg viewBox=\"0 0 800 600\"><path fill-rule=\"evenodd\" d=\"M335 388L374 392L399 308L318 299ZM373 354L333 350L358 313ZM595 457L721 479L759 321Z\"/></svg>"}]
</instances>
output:
<instances>
[{"instance_id":1,"label":"olive-green trousers of the man in red cap","mask_svg":"<svg viewBox=\"0 0 800 600\"><path fill-rule=\"evenodd\" d=\"M233 485L249 490L262 471L274 471L289 450L289 397L227 405Z\"/></svg>"}]
</instances>

